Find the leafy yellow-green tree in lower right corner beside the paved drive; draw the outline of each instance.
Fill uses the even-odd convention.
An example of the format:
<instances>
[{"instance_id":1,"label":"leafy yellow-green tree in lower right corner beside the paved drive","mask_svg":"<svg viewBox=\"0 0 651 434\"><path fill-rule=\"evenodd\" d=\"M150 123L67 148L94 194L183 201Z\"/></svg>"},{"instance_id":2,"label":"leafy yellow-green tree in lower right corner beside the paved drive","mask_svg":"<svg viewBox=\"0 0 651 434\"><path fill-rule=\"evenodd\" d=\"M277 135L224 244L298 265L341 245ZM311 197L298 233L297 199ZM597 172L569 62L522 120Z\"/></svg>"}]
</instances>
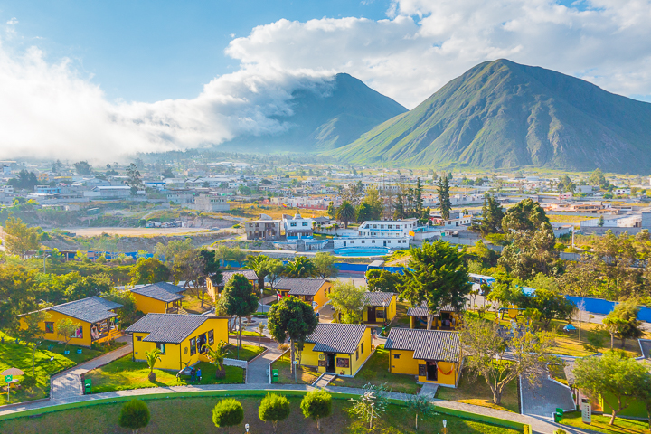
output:
<instances>
[{"instance_id":1,"label":"leafy yellow-green tree in lower right corner beside the paved drive","mask_svg":"<svg viewBox=\"0 0 651 434\"><path fill-rule=\"evenodd\" d=\"M615 352L576 360L575 384L593 400L601 398L611 409L610 425L635 401L637 387L645 381L647 368L635 359Z\"/></svg>"}]
</instances>

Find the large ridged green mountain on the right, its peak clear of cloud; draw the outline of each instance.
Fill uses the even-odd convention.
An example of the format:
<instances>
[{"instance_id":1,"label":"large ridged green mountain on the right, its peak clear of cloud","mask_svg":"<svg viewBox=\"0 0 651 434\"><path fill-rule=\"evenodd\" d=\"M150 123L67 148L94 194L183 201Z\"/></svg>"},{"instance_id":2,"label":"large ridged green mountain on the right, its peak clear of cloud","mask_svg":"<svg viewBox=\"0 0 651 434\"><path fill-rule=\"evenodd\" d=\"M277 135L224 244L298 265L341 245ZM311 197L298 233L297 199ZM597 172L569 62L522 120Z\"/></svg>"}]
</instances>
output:
<instances>
[{"instance_id":1,"label":"large ridged green mountain on the right, its peak clear of cloud","mask_svg":"<svg viewBox=\"0 0 651 434\"><path fill-rule=\"evenodd\" d=\"M491 61L326 155L365 164L646 174L651 104L556 71Z\"/></svg>"}]
</instances>

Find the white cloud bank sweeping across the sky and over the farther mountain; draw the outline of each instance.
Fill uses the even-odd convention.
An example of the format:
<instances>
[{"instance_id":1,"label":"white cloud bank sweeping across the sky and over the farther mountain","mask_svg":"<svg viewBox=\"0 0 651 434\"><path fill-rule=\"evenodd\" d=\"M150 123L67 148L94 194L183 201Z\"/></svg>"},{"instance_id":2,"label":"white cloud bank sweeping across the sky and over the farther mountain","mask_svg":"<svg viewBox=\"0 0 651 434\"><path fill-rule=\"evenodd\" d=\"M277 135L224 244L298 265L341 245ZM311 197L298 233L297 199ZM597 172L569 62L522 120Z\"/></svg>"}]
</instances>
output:
<instances>
[{"instance_id":1,"label":"white cloud bank sweeping across the sky and over the farther mountain","mask_svg":"<svg viewBox=\"0 0 651 434\"><path fill-rule=\"evenodd\" d=\"M651 100L651 0L400 0L386 19L279 20L233 39L239 71L193 99L109 101L71 61L0 40L0 156L90 158L211 146L282 129L291 92L347 72L411 109L481 61L507 58Z\"/></svg>"}]
</instances>

